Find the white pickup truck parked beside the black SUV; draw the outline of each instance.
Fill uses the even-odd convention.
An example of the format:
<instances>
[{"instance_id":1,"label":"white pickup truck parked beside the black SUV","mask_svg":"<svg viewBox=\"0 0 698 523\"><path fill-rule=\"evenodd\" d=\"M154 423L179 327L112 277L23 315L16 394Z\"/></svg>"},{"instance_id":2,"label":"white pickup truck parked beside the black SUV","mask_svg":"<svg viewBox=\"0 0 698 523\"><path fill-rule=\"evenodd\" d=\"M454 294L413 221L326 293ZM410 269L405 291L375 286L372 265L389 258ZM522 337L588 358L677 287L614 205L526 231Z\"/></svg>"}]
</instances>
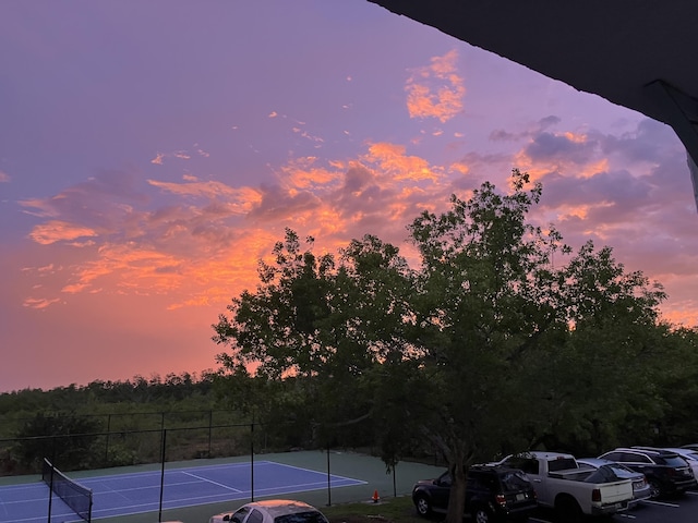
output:
<instances>
[{"instance_id":1,"label":"white pickup truck parked beside the black SUV","mask_svg":"<svg viewBox=\"0 0 698 523\"><path fill-rule=\"evenodd\" d=\"M595 471L581 469L571 454L530 451L500 463L524 471L535 488L539 504L554 508L564 521L578 521L582 513L615 514L627 510L633 499L630 479L603 482Z\"/></svg>"}]
</instances>

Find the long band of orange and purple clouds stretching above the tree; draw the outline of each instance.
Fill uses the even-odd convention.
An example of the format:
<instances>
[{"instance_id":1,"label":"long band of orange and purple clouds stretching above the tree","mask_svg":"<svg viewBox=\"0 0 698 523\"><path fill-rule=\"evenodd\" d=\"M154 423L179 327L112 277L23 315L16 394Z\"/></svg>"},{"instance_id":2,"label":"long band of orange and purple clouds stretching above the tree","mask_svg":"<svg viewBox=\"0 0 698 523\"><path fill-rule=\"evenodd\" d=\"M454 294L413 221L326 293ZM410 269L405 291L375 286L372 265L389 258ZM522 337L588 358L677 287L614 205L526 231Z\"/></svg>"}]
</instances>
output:
<instances>
[{"instance_id":1,"label":"long band of orange and purple clouds stretching above the tree","mask_svg":"<svg viewBox=\"0 0 698 523\"><path fill-rule=\"evenodd\" d=\"M374 142L352 159L291 158L276 168L274 183L257 186L193 173L139 184L134 175L109 172L24 200L41 220L31 233L34 242L83 252L25 305L47 307L95 292L167 296L169 308L224 303L233 289L255 281L256 259L268 256L285 227L315 236L327 251L365 233L402 244L405 226L419 212L445 208L452 193L468 197L485 172L497 171L490 179L505 187L512 167L543 182L533 218L556 223L570 243L610 244L622 258L637 260L634 268L669 282L698 264L697 242L677 245L665 232L666 220L687 229L695 223L688 221L693 209L665 208L687 179L681 178L684 159L661 127L641 122L617 136L565 129L547 117L507 133L500 139L518 143L518 150L468 153L447 166L412 151L419 146ZM650 145L638 147L638 141ZM648 244L661 246L640 247ZM677 299L685 317L694 299Z\"/></svg>"}]
</instances>

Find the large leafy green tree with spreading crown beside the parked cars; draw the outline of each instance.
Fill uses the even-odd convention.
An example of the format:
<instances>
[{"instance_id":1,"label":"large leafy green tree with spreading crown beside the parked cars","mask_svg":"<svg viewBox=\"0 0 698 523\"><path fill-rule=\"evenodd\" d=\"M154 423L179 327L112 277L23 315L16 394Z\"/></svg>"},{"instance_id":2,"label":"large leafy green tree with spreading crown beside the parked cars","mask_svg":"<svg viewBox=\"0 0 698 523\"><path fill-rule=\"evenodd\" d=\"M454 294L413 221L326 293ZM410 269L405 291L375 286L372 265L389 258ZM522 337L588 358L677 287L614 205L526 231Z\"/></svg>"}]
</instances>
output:
<instances>
[{"instance_id":1,"label":"large leafy green tree with spreading crown beside the parked cars","mask_svg":"<svg viewBox=\"0 0 698 523\"><path fill-rule=\"evenodd\" d=\"M592 425L604 396L627 402L625 379L580 393L580 365L650 350L641 338L664 297L611 250L573 254L554 228L532 224L541 193L515 170L506 193L483 183L446 212L421 214L408 227L416 268L375 236L316 258L287 231L255 292L214 326L230 345L221 363L306 378L313 419L373 419L388 465L413 438L430 441L454 479L447 521L460 523L470 464L574 430L573 402Z\"/></svg>"}]
</instances>

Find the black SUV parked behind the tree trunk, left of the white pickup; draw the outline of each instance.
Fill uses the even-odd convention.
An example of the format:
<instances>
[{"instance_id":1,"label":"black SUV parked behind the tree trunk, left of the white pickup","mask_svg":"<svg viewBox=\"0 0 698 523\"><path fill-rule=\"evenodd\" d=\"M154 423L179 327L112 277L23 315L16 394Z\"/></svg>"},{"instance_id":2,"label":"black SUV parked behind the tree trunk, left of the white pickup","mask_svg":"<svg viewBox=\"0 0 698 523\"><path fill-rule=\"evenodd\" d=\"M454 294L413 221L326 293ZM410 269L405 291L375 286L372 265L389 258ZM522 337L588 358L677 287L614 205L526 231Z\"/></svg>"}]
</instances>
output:
<instances>
[{"instance_id":1,"label":"black SUV parked behind the tree trunk, left of the white pickup","mask_svg":"<svg viewBox=\"0 0 698 523\"><path fill-rule=\"evenodd\" d=\"M412 501L420 515L446 512L450 473L437 479L423 479L412 489ZM535 490L525 473L506 466L471 466L466 474L466 513L477 523L514 519L526 521L538 507Z\"/></svg>"}]
</instances>

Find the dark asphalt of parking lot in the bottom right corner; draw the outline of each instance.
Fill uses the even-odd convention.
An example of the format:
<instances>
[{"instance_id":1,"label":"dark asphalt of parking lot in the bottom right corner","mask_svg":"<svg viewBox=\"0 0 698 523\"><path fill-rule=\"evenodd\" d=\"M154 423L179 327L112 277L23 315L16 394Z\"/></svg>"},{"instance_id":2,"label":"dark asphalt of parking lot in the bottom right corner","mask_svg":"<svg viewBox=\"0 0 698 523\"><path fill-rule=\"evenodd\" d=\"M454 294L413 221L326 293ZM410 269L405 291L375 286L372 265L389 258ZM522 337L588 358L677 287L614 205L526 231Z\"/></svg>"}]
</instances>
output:
<instances>
[{"instance_id":1,"label":"dark asphalt of parking lot in the bottom right corner","mask_svg":"<svg viewBox=\"0 0 698 523\"><path fill-rule=\"evenodd\" d=\"M689 491L676 499L643 501L622 514L613 516L614 522L637 523L695 523L698 518L698 491ZM553 523L550 512L541 512L529 518L530 523ZM589 520L593 521L593 520Z\"/></svg>"}]
</instances>

